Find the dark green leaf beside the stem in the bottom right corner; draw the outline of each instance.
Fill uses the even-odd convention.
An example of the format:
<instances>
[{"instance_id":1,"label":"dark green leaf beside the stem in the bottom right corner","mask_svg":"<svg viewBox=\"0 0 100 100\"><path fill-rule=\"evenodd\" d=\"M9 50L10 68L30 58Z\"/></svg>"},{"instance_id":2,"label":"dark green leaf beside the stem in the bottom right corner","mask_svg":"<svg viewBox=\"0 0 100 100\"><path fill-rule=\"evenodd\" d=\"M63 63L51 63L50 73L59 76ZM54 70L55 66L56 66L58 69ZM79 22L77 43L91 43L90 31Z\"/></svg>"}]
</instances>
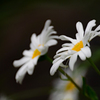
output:
<instances>
[{"instance_id":1,"label":"dark green leaf beside the stem in the bottom right corner","mask_svg":"<svg viewBox=\"0 0 100 100\"><path fill-rule=\"evenodd\" d=\"M86 84L86 80L83 77L83 87L82 87L82 92L85 96L87 96L90 100L99 100L96 92L89 86Z\"/></svg>"}]
</instances>

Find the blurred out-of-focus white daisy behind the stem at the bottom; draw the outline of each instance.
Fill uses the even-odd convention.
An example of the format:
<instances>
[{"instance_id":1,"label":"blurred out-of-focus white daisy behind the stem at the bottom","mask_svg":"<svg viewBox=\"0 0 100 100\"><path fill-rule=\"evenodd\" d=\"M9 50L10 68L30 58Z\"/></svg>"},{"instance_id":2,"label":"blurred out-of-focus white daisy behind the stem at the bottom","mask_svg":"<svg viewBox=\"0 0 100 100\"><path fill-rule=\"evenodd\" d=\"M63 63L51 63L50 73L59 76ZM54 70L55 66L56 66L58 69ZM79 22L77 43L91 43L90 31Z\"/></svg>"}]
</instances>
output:
<instances>
[{"instance_id":1,"label":"blurred out-of-focus white daisy behind the stem at the bottom","mask_svg":"<svg viewBox=\"0 0 100 100\"><path fill-rule=\"evenodd\" d=\"M67 70L66 73L72 77L72 79L81 87L82 86L82 76L85 76L86 70L75 69L73 72ZM66 78L62 76L62 78ZM51 92L49 100L78 100L78 89L70 81L63 81L61 79L56 79L53 84L54 88Z\"/></svg>"}]
</instances>

